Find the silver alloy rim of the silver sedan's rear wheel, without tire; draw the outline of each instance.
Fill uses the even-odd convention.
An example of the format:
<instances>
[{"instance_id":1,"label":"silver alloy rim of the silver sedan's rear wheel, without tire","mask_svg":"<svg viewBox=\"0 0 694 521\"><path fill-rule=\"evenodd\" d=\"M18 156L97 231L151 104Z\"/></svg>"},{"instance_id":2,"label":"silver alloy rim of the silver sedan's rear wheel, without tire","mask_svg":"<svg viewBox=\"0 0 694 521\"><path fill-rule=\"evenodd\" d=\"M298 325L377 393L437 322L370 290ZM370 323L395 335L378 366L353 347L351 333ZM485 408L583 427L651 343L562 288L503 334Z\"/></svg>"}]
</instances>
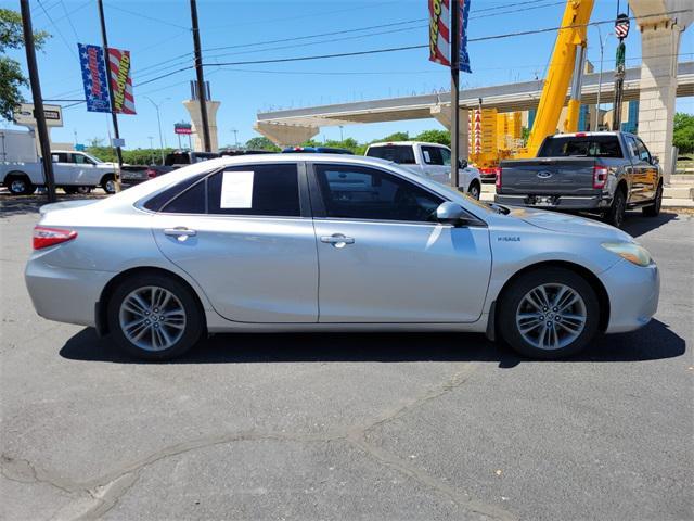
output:
<instances>
[{"instance_id":1,"label":"silver alloy rim of the silver sedan's rear wheel, without tire","mask_svg":"<svg viewBox=\"0 0 694 521\"><path fill-rule=\"evenodd\" d=\"M185 309L169 290L156 285L138 288L120 303L120 330L133 345L144 351L174 346L185 331Z\"/></svg>"}]
</instances>

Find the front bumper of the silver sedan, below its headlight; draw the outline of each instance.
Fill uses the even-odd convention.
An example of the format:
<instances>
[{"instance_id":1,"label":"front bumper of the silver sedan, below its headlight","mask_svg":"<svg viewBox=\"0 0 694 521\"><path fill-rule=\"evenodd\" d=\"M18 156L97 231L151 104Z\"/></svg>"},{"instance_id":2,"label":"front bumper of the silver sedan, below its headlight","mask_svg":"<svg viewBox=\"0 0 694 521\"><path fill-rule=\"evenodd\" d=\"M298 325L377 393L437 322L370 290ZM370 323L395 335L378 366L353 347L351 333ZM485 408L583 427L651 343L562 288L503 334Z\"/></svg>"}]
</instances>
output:
<instances>
[{"instance_id":1,"label":"front bumper of the silver sedan, below its headlight","mask_svg":"<svg viewBox=\"0 0 694 521\"><path fill-rule=\"evenodd\" d=\"M655 264L641 267L620 260L600 279L609 296L609 322L605 332L633 331L651 321L658 308L660 274Z\"/></svg>"}]
</instances>

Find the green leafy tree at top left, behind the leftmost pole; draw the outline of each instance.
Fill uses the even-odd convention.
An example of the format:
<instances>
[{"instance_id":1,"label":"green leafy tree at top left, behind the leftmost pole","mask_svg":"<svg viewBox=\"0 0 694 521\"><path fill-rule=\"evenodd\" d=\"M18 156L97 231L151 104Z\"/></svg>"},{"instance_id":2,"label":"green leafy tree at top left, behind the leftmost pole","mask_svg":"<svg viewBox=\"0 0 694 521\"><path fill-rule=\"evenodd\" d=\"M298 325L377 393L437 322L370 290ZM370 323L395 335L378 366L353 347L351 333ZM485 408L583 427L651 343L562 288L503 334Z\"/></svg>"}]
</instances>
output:
<instances>
[{"instance_id":1,"label":"green leafy tree at top left, behind the leftmost pole","mask_svg":"<svg viewBox=\"0 0 694 521\"><path fill-rule=\"evenodd\" d=\"M44 30L34 34L34 45L40 49L50 35ZM24 102L21 88L28 85L16 60L7 55L10 49L24 47L22 15L16 11L0 9L0 116L12 120L12 113Z\"/></svg>"}]
</instances>

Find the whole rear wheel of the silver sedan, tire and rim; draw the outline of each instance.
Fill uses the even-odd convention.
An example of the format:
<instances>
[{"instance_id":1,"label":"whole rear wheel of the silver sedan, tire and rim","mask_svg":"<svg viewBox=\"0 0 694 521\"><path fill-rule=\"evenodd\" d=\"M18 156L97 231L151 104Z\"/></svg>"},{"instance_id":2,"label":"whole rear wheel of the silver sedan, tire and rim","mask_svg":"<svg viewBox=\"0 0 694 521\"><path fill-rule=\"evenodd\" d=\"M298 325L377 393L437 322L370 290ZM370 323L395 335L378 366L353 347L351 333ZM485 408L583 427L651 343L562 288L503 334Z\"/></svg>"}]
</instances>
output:
<instances>
[{"instance_id":1,"label":"whole rear wheel of the silver sedan, tire and rim","mask_svg":"<svg viewBox=\"0 0 694 521\"><path fill-rule=\"evenodd\" d=\"M182 355L204 330L203 312L191 290L158 274L121 283L108 302L107 316L116 344L146 360Z\"/></svg>"}]
</instances>

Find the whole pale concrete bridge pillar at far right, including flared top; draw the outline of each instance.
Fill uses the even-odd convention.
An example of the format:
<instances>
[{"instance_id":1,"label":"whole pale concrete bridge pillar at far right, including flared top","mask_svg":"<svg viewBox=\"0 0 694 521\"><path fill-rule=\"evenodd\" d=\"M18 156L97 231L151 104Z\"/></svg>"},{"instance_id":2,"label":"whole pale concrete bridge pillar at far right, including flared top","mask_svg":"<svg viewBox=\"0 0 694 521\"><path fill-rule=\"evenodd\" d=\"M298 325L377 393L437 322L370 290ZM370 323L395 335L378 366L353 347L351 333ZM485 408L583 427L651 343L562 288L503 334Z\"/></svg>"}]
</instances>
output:
<instances>
[{"instance_id":1,"label":"whole pale concrete bridge pillar at far right, including flared top","mask_svg":"<svg viewBox=\"0 0 694 521\"><path fill-rule=\"evenodd\" d=\"M689 0L629 0L629 4L641 29L643 56L638 134L659 157L669 183L680 36L692 22L692 10Z\"/></svg>"}]
</instances>

